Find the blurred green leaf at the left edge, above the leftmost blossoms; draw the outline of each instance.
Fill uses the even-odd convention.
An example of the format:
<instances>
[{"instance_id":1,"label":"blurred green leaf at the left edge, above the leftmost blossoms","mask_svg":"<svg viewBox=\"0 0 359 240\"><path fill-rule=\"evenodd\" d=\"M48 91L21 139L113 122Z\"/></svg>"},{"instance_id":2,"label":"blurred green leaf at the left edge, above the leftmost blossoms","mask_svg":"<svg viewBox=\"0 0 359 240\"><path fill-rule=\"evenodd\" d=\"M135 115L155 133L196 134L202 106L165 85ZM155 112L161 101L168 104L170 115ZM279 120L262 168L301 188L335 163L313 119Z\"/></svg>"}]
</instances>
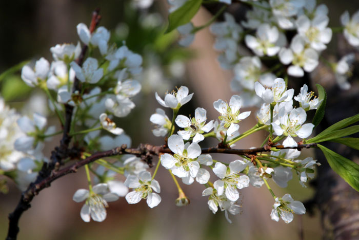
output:
<instances>
[{"instance_id":1,"label":"blurred green leaf at the left edge, above the leftmost blossoms","mask_svg":"<svg viewBox=\"0 0 359 240\"><path fill-rule=\"evenodd\" d=\"M25 82L18 76L11 76L6 78L1 88L1 95L5 101L12 101L17 98L26 97L32 90L31 87L25 84Z\"/></svg>"}]
</instances>

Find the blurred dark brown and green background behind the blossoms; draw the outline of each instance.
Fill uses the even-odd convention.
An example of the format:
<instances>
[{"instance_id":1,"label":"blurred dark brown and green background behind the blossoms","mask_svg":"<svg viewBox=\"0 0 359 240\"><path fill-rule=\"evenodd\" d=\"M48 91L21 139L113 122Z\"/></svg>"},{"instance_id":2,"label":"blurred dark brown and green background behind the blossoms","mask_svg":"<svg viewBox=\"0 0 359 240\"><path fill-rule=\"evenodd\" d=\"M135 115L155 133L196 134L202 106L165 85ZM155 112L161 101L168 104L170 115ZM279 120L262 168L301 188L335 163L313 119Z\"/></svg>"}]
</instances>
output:
<instances>
[{"instance_id":1,"label":"blurred dark brown and green background behind the blossoms","mask_svg":"<svg viewBox=\"0 0 359 240\"><path fill-rule=\"evenodd\" d=\"M161 36L166 24L168 5L166 1L155 1L148 10L136 10L130 1L1 1L0 3L0 72L25 60L45 57L52 60L50 47L58 43L76 43L78 41L76 25L84 22L89 24L91 12L101 8L101 26L111 30L111 38L121 42L126 40L129 48L143 54L145 67L156 66L168 69L174 61L186 62L186 71L182 77L167 78L166 70L150 72L147 76L151 81L164 81L166 89L173 86L186 85L194 97L190 104L181 109L180 114L193 113L194 108L200 106L208 110L208 118L215 119L217 114L213 109L213 101L218 98L229 99L233 94L229 83L231 72L222 70L217 61L217 53L212 50L213 36L208 29L196 34L195 41L189 50L178 50L172 41L175 34ZM358 1L323 1L328 5L329 26L340 26L340 15L348 9L352 14L359 9ZM234 6L236 7L236 6ZM148 12L158 12L159 24L146 27L144 16ZM142 17L142 19L141 19ZM208 21L210 13L201 9L195 16L195 25ZM170 38L170 39L168 39ZM328 47L328 54L336 52L336 37ZM158 69L157 69L158 70ZM152 74L152 75L151 75ZM166 81L165 81L166 80ZM41 95L31 92L23 84L19 76L11 76L1 83L1 94L4 96L11 91L13 82L18 81L24 94L7 98L10 105L21 109L28 97ZM9 82L9 83L7 83ZM12 82L10 84L10 82ZM17 86L17 85L16 85ZM8 88L6 88L8 87ZM8 90L10 89L10 90ZM17 89L17 88L16 88ZM156 107L160 107L154 99L154 91L163 96L166 89L156 84L144 87L144 93L136 101L136 108L125 119L119 120L128 135L132 137L132 145L139 143L162 144L161 138L152 135L149 117ZM296 91L297 93L298 91ZM36 106L38 110L41 106ZM254 110L254 109L252 109ZM241 132L248 130L255 122L255 114L241 123ZM49 119L56 124L56 119ZM257 146L262 143L263 136L255 134L251 139L239 141L238 148ZM54 139L46 146L45 155L49 156L59 139ZM210 142L207 142L210 144ZM303 151L302 158L313 154ZM216 156L214 159L231 161L233 156ZM156 159L155 159L156 161ZM153 171L153 170L150 170ZM213 174L212 174L213 175ZM212 176L213 177L213 176ZM124 178L118 178L124 180ZM83 204L72 200L78 188L87 188L85 171L67 175L52 183L51 188L42 191L34 198L31 208L26 211L20 222L19 239L300 239L299 233L304 233L305 239L320 238L321 225L317 210L314 216L305 214L295 215L291 224L279 223L270 219L273 199L265 187L253 187L241 191L243 195L243 213L230 215L233 223L228 224L223 212L212 214L207 206L207 198L202 197L203 186L193 183L191 186L182 184L191 204L178 208L174 205L177 190L170 175L164 168L160 168L156 179L161 184L161 204L150 209L142 200L139 204L128 205L124 198L111 202L107 209L107 218L102 223L91 221L84 223L79 212ZM304 189L293 174L288 189L278 188L270 182L273 191L278 196L290 193L295 200L305 201L313 194L312 188ZM19 199L21 192L14 184L9 184L9 193L0 194L0 238L7 233L7 215L11 212Z\"/></svg>"}]
</instances>

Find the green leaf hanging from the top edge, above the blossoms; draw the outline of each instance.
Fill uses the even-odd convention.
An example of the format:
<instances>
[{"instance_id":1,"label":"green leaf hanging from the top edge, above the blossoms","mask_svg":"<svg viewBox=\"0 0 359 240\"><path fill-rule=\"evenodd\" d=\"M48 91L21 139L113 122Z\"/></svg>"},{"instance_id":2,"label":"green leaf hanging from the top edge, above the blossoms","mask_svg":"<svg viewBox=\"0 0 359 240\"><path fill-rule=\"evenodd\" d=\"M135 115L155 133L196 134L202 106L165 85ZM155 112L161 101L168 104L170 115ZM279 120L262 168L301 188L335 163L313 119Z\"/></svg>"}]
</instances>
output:
<instances>
[{"instance_id":1,"label":"green leaf hanging from the top edge, above the blossoms","mask_svg":"<svg viewBox=\"0 0 359 240\"><path fill-rule=\"evenodd\" d=\"M200 9L202 0L189 0L180 8L177 8L175 11L171 12L168 15L168 28L165 33L176 29L179 26L182 26L191 21L192 17Z\"/></svg>"}]
</instances>

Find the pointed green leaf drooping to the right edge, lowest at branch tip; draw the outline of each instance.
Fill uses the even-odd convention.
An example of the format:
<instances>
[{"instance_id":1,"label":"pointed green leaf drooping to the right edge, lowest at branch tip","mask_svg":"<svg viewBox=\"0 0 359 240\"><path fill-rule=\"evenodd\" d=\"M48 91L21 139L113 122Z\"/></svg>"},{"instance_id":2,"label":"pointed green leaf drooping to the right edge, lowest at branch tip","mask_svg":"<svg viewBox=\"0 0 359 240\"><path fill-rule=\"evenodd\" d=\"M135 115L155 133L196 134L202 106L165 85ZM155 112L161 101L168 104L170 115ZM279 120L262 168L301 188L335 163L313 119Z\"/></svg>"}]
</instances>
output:
<instances>
[{"instance_id":1,"label":"pointed green leaf drooping to the right edge, lowest at branch tip","mask_svg":"<svg viewBox=\"0 0 359 240\"><path fill-rule=\"evenodd\" d=\"M330 167L339 174L349 185L359 192L359 165L327 147L317 145L325 155Z\"/></svg>"}]
</instances>

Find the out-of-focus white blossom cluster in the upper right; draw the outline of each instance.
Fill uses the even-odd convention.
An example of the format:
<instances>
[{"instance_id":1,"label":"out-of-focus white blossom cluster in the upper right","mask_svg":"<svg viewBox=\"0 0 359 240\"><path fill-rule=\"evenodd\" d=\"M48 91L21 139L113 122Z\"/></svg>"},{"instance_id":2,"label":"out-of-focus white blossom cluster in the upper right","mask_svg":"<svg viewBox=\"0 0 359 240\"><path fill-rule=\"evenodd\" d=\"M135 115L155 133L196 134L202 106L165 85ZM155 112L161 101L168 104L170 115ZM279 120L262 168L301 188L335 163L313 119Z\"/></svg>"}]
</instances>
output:
<instances>
[{"instance_id":1,"label":"out-of-focus white blossom cluster in the upper right","mask_svg":"<svg viewBox=\"0 0 359 240\"><path fill-rule=\"evenodd\" d=\"M325 4L316 6L315 0L271 0L249 4L252 9L247 11L246 21L236 23L231 14L225 13L225 22L213 23L211 31L216 36L214 49L221 52L218 57L221 67L233 70L232 90L241 93L245 106L258 106L259 100L253 95L254 82L271 87L278 73L286 71L289 76L303 77L305 72L312 72L332 39L332 29L328 27L328 7ZM345 12L341 17L344 35L354 47L359 46L358 16L359 12L356 12L350 18ZM296 34L287 39L286 31L293 30ZM256 57L248 56L241 44ZM280 63L266 70L262 62L268 59ZM350 66L353 60L349 60L343 58L338 68L334 64L331 66L342 89L350 86L347 78L351 69L343 64L346 61Z\"/></svg>"}]
</instances>

